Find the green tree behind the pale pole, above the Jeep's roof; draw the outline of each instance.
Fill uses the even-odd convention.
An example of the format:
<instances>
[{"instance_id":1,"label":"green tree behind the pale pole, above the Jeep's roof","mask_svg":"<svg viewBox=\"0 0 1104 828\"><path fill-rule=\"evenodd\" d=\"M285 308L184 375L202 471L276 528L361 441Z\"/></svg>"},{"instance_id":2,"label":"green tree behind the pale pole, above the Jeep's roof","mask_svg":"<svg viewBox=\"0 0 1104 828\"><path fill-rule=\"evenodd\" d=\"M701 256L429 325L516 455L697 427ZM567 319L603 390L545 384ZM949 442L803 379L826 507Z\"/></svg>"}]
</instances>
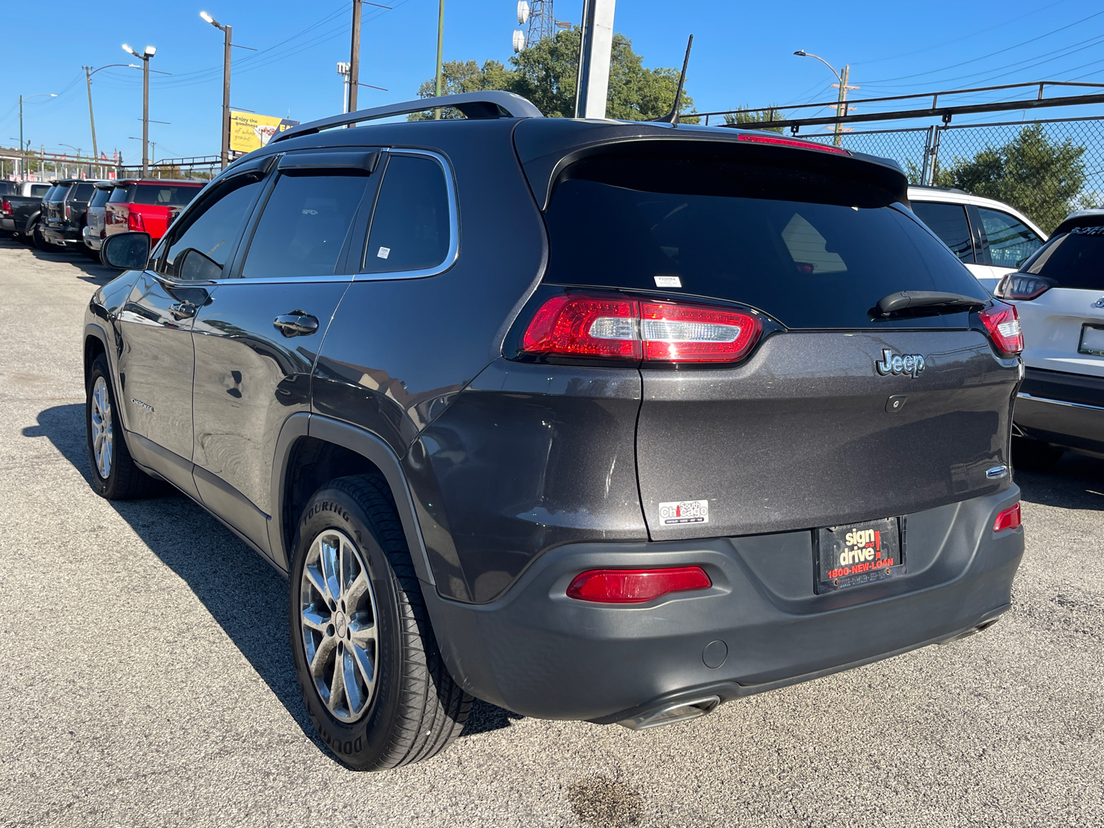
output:
<instances>
[{"instance_id":1,"label":"green tree behind the pale pole, above the Jeep's roof","mask_svg":"<svg viewBox=\"0 0 1104 828\"><path fill-rule=\"evenodd\" d=\"M545 116L571 118L575 114L575 78L578 72L578 28L556 32L510 59L510 66L498 61L448 61L443 67L445 95L464 92L502 89L533 102ZM671 110L679 73L672 68L646 68L644 60L633 51L633 41L624 34L614 35L609 61L609 97L606 116L623 120L650 120ZM435 79L418 87L418 96L433 97ZM693 113L693 99L682 91L680 113ZM445 112L443 117L459 117ZM424 113L408 116L411 120L433 117ZM683 117L697 124L696 116Z\"/></svg>"}]
</instances>

